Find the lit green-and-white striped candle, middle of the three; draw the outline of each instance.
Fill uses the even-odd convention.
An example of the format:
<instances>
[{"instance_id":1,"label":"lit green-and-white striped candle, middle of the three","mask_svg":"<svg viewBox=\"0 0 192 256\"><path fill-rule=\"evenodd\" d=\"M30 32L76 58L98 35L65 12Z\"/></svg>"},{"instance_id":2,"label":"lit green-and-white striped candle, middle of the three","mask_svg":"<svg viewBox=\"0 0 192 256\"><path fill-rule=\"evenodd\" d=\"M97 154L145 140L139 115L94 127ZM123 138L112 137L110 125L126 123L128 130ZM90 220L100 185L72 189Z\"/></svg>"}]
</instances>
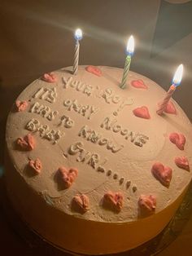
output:
<instances>
[{"instance_id":1,"label":"lit green-and-white striped candle, middle of the three","mask_svg":"<svg viewBox=\"0 0 192 256\"><path fill-rule=\"evenodd\" d=\"M124 74L123 74L123 78L122 78L122 81L120 84L121 89L124 89L126 87L126 82L127 82L127 77L128 77L128 73L129 73L131 57L133 56L133 52L134 52L134 38L133 38L133 36L130 36L130 38L128 40L128 44L127 44L127 57L126 57L125 63L124 63Z\"/></svg>"}]
</instances>

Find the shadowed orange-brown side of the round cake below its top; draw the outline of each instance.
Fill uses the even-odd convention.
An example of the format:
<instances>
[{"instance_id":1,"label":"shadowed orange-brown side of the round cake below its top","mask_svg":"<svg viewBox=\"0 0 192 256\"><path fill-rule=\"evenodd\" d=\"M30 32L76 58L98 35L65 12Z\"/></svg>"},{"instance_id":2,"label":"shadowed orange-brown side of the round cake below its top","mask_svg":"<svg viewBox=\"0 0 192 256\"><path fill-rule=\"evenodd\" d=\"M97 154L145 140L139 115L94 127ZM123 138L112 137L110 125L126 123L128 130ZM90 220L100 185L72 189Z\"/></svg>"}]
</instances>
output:
<instances>
[{"instance_id":1,"label":"shadowed orange-brown side of the round cake below its top","mask_svg":"<svg viewBox=\"0 0 192 256\"><path fill-rule=\"evenodd\" d=\"M151 240L168 224L187 190L166 209L148 218L129 223L93 222L53 208L12 172L14 166L9 157L6 159L7 194L20 218L43 240L77 254L115 254Z\"/></svg>"}]
</instances>

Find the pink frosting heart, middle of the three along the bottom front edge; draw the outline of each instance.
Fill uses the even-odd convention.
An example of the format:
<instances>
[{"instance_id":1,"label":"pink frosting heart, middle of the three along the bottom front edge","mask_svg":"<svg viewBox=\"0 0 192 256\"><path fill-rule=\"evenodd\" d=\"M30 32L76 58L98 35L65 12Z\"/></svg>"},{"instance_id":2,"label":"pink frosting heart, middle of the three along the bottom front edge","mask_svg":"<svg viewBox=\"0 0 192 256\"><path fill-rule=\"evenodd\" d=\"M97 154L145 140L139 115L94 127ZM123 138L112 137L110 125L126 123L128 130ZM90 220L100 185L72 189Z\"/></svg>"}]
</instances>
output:
<instances>
[{"instance_id":1,"label":"pink frosting heart, middle of the three along the bottom front edge","mask_svg":"<svg viewBox=\"0 0 192 256\"><path fill-rule=\"evenodd\" d=\"M124 196L122 192L108 191L103 196L103 204L112 210L120 211L123 207Z\"/></svg>"}]
</instances>

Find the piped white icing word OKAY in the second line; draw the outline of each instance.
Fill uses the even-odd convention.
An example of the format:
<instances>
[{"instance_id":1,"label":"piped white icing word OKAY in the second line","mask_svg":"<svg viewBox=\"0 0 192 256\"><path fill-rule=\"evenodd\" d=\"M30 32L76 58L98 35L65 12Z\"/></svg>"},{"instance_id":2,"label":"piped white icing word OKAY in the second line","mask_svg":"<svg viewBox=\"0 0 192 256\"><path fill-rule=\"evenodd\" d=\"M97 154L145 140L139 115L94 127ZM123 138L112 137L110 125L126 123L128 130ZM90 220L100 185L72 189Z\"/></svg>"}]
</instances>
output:
<instances>
[{"instance_id":1,"label":"piped white icing word OKAY in the second line","mask_svg":"<svg viewBox=\"0 0 192 256\"><path fill-rule=\"evenodd\" d=\"M90 119L90 117L94 113L98 113L99 110L99 108L96 108L94 106L78 104L76 99L65 99L63 105L65 108L67 108L68 111L73 110L76 113L81 114L81 116L86 117L87 119Z\"/></svg>"}]
</instances>

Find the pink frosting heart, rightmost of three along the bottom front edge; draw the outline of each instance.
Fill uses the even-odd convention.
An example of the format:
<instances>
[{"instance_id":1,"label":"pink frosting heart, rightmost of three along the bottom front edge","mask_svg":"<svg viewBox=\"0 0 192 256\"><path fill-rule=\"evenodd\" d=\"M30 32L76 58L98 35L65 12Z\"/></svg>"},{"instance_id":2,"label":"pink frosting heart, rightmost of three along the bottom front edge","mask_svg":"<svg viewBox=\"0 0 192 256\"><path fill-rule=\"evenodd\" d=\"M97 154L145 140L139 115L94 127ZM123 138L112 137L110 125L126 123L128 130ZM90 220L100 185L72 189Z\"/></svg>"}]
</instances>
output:
<instances>
[{"instance_id":1,"label":"pink frosting heart, rightmost of three along the bottom front edge","mask_svg":"<svg viewBox=\"0 0 192 256\"><path fill-rule=\"evenodd\" d=\"M156 197L153 195L150 195L150 196L141 195L138 199L138 205L141 210L144 210L147 212L155 212Z\"/></svg>"}]
</instances>

